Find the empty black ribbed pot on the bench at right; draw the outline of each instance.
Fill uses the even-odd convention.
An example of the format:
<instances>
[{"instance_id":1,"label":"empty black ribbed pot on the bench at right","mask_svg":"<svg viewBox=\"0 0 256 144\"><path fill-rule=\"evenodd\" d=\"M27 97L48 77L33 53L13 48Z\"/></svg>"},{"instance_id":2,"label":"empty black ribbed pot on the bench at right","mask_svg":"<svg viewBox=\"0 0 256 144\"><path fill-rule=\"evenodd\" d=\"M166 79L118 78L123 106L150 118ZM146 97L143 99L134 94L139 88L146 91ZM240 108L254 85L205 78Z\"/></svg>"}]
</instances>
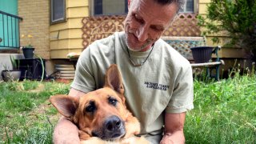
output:
<instances>
[{"instance_id":1,"label":"empty black ribbed pot on the bench at right","mask_svg":"<svg viewBox=\"0 0 256 144\"><path fill-rule=\"evenodd\" d=\"M213 51L212 46L197 46L191 47L192 55L195 63L210 62L211 54Z\"/></svg>"}]
</instances>

